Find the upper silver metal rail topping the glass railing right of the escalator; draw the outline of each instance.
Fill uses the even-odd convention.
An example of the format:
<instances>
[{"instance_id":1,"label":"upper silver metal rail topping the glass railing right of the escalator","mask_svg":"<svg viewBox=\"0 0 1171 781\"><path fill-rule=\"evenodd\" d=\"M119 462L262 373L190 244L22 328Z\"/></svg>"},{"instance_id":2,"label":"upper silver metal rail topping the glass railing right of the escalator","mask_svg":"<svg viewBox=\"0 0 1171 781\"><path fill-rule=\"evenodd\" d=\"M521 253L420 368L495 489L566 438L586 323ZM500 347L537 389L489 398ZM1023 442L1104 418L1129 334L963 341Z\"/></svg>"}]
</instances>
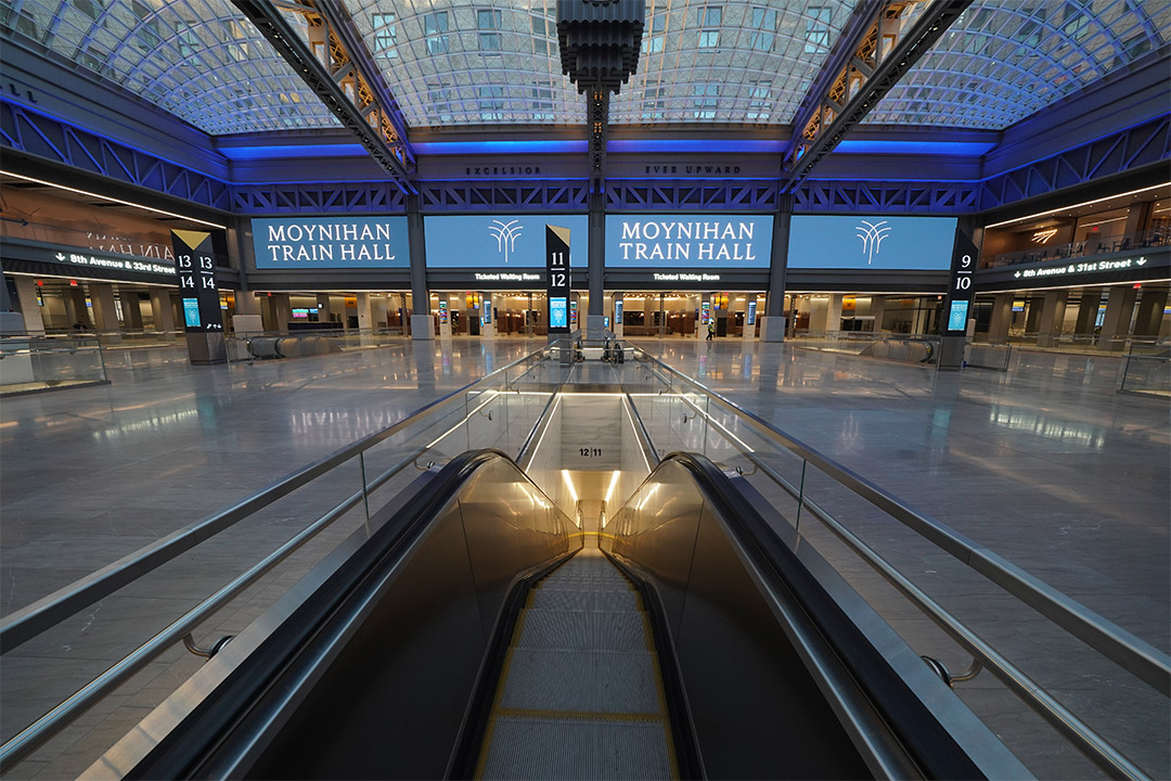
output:
<instances>
[{"instance_id":1,"label":"upper silver metal rail topping the glass railing right of the escalator","mask_svg":"<svg viewBox=\"0 0 1171 781\"><path fill-rule=\"evenodd\" d=\"M1016 564L974 540L956 532L919 511L896 499L881 487L817 452L801 440L780 431L756 415L720 396L703 383L687 377L663 363L641 348L635 348L642 359L665 369L672 376L694 385L707 398L742 418L765 439L781 445L785 450L808 461L855 494L898 520L940 550L952 555L967 567L1029 605L1042 616L1077 637L1108 659L1165 696L1171 696L1171 656L1100 616L1080 602L1069 598L1045 581L1030 575Z\"/></svg>"}]
</instances>

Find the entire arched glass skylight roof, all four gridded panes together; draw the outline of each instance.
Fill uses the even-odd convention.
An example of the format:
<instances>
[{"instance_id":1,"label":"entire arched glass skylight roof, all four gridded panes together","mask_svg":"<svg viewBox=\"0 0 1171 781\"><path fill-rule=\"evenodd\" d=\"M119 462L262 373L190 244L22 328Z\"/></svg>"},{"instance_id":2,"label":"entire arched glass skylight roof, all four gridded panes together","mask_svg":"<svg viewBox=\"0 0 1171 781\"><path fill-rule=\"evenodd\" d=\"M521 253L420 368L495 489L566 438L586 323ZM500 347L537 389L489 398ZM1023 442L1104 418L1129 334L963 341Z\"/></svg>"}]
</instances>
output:
<instances>
[{"instance_id":1,"label":"entire arched glass skylight roof, all four gridded panes together","mask_svg":"<svg viewBox=\"0 0 1171 781\"><path fill-rule=\"evenodd\" d=\"M584 124L555 0L344 2L409 126ZM855 2L646 0L611 123L788 124ZM228 0L0 0L0 22L212 135L337 126ZM1169 36L1171 0L977 0L867 122L1002 129Z\"/></svg>"}]
</instances>

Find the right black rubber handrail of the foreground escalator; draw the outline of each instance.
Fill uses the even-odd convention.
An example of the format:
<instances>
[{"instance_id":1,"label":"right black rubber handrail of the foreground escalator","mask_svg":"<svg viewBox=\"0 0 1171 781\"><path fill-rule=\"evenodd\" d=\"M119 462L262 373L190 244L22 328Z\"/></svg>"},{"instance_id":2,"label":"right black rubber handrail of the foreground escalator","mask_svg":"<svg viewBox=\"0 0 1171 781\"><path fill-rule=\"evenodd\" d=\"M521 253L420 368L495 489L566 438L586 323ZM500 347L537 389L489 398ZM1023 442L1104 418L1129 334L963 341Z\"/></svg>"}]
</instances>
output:
<instances>
[{"instance_id":1,"label":"right black rubber handrail of the foreground escalator","mask_svg":"<svg viewBox=\"0 0 1171 781\"><path fill-rule=\"evenodd\" d=\"M679 464L693 477L738 546L753 557L756 570L766 575L773 587L780 585L795 598L804 617L826 639L858 688L865 692L867 699L924 772L924 777L984 777L951 733L874 648L793 549L778 537L756 508L745 501L728 475L698 453L669 453L663 457L660 467L669 461ZM653 475L648 481L652 479Z\"/></svg>"}]
</instances>

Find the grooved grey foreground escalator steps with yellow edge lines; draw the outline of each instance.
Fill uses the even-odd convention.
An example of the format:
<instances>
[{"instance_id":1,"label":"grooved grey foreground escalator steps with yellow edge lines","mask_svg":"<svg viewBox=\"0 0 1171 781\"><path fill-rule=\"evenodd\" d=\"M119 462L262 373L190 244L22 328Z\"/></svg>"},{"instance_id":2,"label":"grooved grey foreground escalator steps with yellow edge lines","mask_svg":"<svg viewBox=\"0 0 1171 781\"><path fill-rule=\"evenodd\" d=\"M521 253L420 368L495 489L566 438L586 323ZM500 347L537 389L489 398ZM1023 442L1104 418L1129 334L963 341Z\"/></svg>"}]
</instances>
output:
<instances>
[{"instance_id":1,"label":"grooved grey foreground escalator steps with yellow edge lines","mask_svg":"<svg viewBox=\"0 0 1171 781\"><path fill-rule=\"evenodd\" d=\"M676 777L658 659L638 592L587 547L529 592L477 777Z\"/></svg>"}]
</instances>

